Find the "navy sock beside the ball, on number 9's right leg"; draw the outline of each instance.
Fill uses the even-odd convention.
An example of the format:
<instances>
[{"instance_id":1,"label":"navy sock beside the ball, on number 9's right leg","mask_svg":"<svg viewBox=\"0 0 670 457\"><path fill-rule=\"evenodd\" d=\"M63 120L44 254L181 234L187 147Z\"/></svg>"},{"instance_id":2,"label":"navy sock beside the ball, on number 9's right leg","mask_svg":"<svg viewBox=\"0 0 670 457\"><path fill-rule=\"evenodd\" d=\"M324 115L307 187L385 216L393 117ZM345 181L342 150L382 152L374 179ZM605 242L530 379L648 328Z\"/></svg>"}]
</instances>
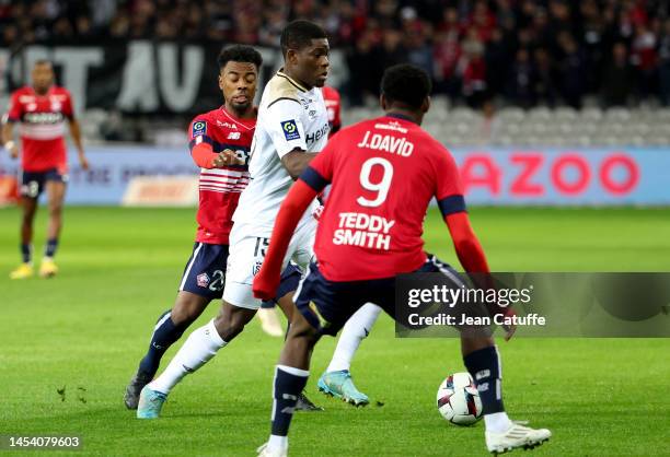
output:
<instances>
[{"instance_id":1,"label":"navy sock beside the ball, on number 9's right leg","mask_svg":"<svg viewBox=\"0 0 670 457\"><path fill-rule=\"evenodd\" d=\"M488 414L504 413L505 407L503 406L501 386L503 367L500 365L498 348L495 345L489 345L488 348L471 352L463 358L463 362L467 367L467 372L472 375L472 378L477 385L477 391L480 392L480 398L482 399L482 412L484 418L486 419ZM500 432L509 429L511 422L507 418L507 414L505 414L504 418L507 419L507 426L504 426L503 430L490 431ZM494 420L486 421L487 430L489 422L492 422L492 426L496 426L496 429L505 425L504 420L496 420L494 418Z\"/></svg>"}]
</instances>

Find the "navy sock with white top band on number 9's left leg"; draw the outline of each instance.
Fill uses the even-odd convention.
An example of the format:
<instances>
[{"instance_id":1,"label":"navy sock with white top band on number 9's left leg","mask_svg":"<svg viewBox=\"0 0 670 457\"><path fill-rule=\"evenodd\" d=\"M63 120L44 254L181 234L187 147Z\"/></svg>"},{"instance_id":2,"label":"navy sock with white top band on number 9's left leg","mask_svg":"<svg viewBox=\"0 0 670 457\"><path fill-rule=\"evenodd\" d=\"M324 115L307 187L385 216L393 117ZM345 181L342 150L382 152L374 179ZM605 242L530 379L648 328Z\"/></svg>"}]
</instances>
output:
<instances>
[{"instance_id":1,"label":"navy sock with white top band on number 9's left leg","mask_svg":"<svg viewBox=\"0 0 670 457\"><path fill-rule=\"evenodd\" d=\"M277 365L275 389L273 391L273 435L288 435L298 396L304 389L309 376L310 372L308 371Z\"/></svg>"}]
</instances>

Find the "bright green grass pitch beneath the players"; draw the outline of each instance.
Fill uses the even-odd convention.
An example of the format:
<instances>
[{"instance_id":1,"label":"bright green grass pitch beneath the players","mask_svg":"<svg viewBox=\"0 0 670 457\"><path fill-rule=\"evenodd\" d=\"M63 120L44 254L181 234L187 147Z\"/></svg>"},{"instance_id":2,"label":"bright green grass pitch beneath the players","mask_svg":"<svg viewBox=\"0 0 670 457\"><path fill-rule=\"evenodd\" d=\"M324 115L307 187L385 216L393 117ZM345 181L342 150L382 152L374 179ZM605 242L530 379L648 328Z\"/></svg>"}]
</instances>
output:
<instances>
[{"instance_id":1,"label":"bright green grass pitch beneath the players","mask_svg":"<svg viewBox=\"0 0 670 457\"><path fill-rule=\"evenodd\" d=\"M498 271L670 270L668 210L472 209L471 215ZM194 210L68 208L61 272L51 280L8 279L19 258L19 211L0 210L0 434L81 435L78 455L255 455L268 434L281 345L255 321L175 388L160 420L136 420L122 402L155 319L173 303ZM45 223L42 210L36 260ZM426 241L457 263L436 211ZM217 309L212 304L196 326ZM334 345L331 338L319 344L308 385L326 412L297 414L292 456L485 455L483 424L450 425L435 405L442 378L463 371L457 340L395 339L384 316L353 367L372 399L365 409L315 392ZM670 340L517 339L500 347L510 415L554 433L538 455L669 453ZM57 392L62 387L65 397Z\"/></svg>"}]
</instances>

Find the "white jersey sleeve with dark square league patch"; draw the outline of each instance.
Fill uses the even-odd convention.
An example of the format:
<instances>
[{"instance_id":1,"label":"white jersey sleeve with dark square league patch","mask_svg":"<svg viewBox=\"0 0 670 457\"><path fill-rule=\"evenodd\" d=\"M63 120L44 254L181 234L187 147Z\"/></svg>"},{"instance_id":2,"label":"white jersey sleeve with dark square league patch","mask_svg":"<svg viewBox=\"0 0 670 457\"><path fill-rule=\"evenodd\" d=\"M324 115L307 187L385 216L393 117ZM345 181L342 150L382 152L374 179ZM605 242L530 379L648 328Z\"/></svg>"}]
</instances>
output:
<instances>
[{"instance_id":1,"label":"white jersey sleeve with dark square league patch","mask_svg":"<svg viewBox=\"0 0 670 457\"><path fill-rule=\"evenodd\" d=\"M294 149L307 151L307 140L301 117L304 108L292 98L281 98L267 107L268 117L263 126L273 140L279 159Z\"/></svg>"}]
</instances>

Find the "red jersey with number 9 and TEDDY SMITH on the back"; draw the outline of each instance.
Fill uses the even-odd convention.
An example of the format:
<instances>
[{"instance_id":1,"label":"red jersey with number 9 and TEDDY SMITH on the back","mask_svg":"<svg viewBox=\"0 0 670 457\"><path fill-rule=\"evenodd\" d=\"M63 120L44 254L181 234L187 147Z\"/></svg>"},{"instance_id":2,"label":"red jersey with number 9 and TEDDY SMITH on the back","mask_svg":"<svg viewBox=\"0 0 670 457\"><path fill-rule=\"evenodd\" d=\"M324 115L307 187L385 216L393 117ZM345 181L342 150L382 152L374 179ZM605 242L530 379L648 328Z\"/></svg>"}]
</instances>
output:
<instances>
[{"instance_id":1,"label":"red jersey with number 9 and TEDDY SMITH on the back","mask_svg":"<svg viewBox=\"0 0 670 457\"><path fill-rule=\"evenodd\" d=\"M331 281L416 270L426 261L421 234L432 197L443 215L465 211L449 151L396 116L342 130L301 178L314 189L332 183L314 244L319 269Z\"/></svg>"}]
</instances>

